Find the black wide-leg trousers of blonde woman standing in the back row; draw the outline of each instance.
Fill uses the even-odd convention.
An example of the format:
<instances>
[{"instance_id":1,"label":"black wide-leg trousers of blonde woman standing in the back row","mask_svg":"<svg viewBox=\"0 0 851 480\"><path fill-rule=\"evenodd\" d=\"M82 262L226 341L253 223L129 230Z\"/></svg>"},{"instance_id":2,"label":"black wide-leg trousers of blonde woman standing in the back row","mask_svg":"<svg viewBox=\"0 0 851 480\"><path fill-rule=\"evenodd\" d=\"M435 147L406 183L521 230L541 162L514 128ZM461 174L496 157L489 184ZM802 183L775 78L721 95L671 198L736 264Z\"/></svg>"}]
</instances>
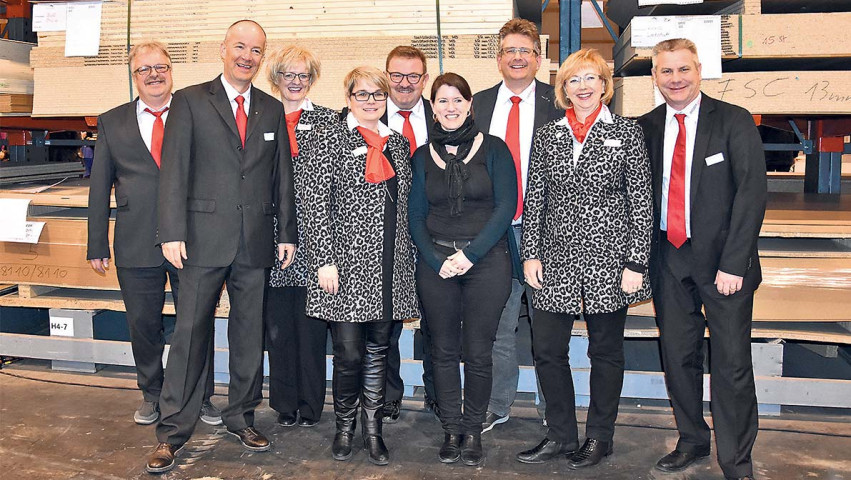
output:
<instances>
[{"instance_id":1,"label":"black wide-leg trousers of blonde woman standing in the back row","mask_svg":"<svg viewBox=\"0 0 851 480\"><path fill-rule=\"evenodd\" d=\"M328 324L304 314L306 287L266 285L263 312L269 352L269 406L318 421L325 403Z\"/></svg>"}]
</instances>

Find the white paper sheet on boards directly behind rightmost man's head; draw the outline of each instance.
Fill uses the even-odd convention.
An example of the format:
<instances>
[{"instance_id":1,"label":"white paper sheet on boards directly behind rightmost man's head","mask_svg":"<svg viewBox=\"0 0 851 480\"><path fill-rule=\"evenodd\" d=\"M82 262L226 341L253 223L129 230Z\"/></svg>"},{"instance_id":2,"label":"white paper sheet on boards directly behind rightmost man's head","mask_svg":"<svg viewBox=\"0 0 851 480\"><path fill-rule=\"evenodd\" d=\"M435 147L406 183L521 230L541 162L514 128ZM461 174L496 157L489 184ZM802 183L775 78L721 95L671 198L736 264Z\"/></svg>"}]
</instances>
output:
<instances>
[{"instance_id":1,"label":"white paper sheet on boards directly behind rightmost man's head","mask_svg":"<svg viewBox=\"0 0 851 480\"><path fill-rule=\"evenodd\" d=\"M721 17L718 15L634 17L633 48L653 47L669 38L687 38L697 45L702 78L721 78Z\"/></svg>"}]
</instances>

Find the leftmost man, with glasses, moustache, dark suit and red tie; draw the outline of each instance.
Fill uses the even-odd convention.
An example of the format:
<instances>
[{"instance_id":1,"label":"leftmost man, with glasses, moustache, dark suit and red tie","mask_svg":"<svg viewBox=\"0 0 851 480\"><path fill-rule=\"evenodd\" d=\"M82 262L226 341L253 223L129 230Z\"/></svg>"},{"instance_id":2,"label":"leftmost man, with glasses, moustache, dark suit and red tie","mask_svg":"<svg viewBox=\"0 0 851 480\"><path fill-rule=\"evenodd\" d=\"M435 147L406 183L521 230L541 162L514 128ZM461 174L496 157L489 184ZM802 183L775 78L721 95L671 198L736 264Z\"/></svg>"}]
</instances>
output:
<instances>
[{"instance_id":1,"label":"leftmost man, with glasses, moustache, dark suit and red tie","mask_svg":"<svg viewBox=\"0 0 851 480\"><path fill-rule=\"evenodd\" d=\"M136 382L143 397L133 419L148 425L160 416L166 279L175 305L179 288L177 269L165 261L156 242L156 196L163 126L171 103L171 57L163 44L149 42L130 50L129 63L139 97L98 118L86 258L101 274L109 268L109 194L114 186L116 274L127 311ZM208 362L213 355L212 342L209 345ZM221 412L210 402L212 369L206 379L201 420L219 425Z\"/></svg>"}]
</instances>

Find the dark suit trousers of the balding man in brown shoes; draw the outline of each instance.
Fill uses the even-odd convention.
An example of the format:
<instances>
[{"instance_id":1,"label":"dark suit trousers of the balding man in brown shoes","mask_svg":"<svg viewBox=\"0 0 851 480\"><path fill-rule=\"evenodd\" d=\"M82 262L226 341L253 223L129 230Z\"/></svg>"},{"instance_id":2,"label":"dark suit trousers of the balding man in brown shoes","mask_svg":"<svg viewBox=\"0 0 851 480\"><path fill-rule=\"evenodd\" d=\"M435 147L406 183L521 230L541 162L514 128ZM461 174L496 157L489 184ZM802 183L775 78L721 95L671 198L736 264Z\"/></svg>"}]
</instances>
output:
<instances>
[{"instance_id":1,"label":"dark suit trousers of the balding man in brown shoes","mask_svg":"<svg viewBox=\"0 0 851 480\"><path fill-rule=\"evenodd\" d=\"M198 267L184 263L180 272L177 325L160 395L162 416L157 425L160 442L186 443L195 429L204 380L210 368L206 357L213 335L216 302L225 283L230 297L230 383L222 421L230 430L254 425L254 409L262 400L266 269L251 264L244 241L240 241L236 258L229 266Z\"/></svg>"}]
</instances>

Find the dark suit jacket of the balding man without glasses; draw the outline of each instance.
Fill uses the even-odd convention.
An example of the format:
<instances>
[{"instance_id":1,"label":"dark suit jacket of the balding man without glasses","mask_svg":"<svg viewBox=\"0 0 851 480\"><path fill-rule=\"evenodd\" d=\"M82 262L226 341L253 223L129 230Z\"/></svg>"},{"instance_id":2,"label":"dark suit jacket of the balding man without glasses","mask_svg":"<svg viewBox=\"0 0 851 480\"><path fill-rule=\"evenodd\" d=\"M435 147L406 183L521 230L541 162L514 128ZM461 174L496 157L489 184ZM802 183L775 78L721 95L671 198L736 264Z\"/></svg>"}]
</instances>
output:
<instances>
[{"instance_id":1,"label":"dark suit jacket of the balding man without glasses","mask_svg":"<svg viewBox=\"0 0 851 480\"><path fill-rule=\"evenodd\" d=\"M185 262L224 267L240 236L254 267L274 262L278 243L296 243L289 137L280 101L251 87L245 148L219 77L177 91L163 142L159 242L185 241Z\"/></svg>"}]
</instances>

